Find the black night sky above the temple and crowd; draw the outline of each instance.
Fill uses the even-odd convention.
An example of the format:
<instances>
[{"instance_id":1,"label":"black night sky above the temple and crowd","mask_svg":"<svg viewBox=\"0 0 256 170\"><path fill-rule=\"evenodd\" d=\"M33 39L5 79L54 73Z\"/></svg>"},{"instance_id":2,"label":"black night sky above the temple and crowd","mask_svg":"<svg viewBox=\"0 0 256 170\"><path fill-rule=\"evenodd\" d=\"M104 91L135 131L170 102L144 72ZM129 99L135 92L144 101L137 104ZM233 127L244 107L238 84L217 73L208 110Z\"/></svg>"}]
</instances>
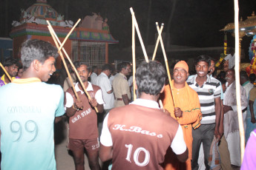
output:
<instances>
[{"instance_id":1,"label":"black night sky above the temple and crowd","mask_svg":"<svg viewBox=\"0 0 256 170\"><path fill-rule=\"evenodd\" d=\"M36 0L0 0L0 36L9 37L12 21L19 21L20 9ZM111 34L119 40L116 47L131 47L131 12L133 7L145 44L154 44L155 22L164 23L163 32L170 33L171 44L191 47L223 46L222 29L234 22L233 0L47 0L66 19L77 21L92 12L108 18ZM243 20L256 10L256 0L240 1ZM167 31L168 22L170 29ZM252 37L244 38L242 48ZM228 34L228 47L234 38Z\"/></svg>"}]
</instances>

